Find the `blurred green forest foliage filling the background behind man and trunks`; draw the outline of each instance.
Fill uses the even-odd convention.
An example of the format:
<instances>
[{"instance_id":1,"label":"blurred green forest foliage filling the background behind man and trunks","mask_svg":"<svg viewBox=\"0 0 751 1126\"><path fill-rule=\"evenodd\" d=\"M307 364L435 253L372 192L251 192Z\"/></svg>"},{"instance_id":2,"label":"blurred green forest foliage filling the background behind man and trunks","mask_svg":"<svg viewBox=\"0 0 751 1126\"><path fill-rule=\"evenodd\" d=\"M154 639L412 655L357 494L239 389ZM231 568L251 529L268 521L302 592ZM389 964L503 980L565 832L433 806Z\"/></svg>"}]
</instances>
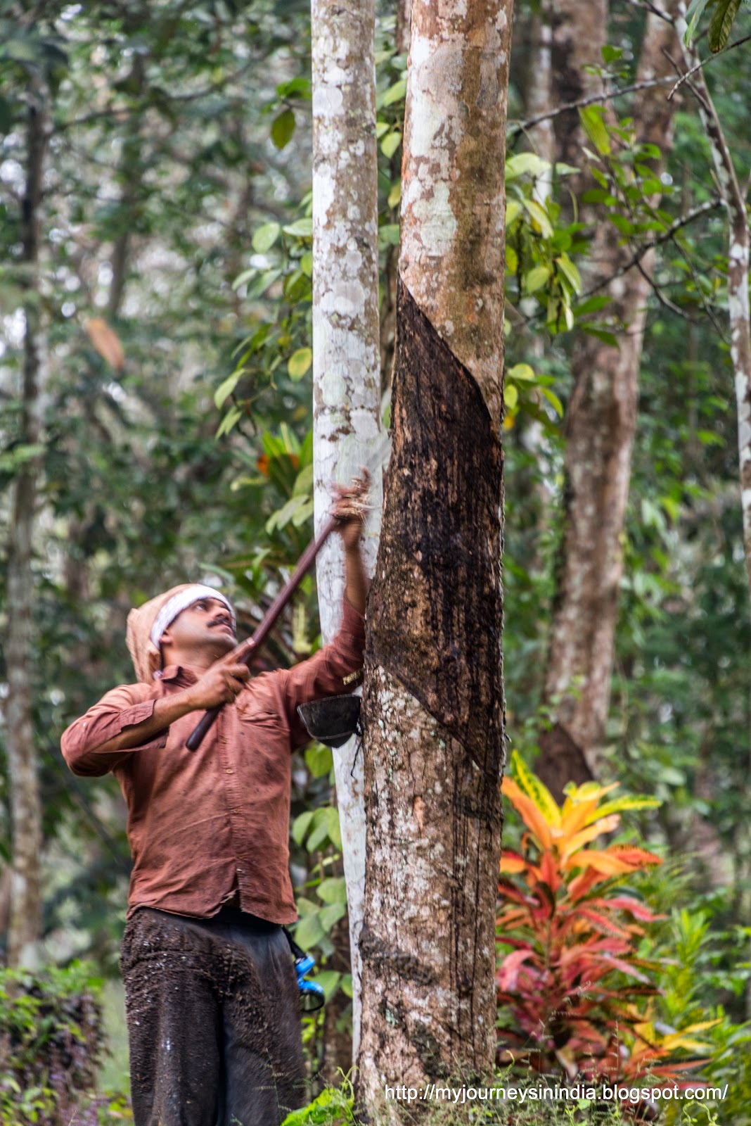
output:
<instances>
[{"instance_id":1,"label":"blurred green forest foliage filling the background behind man and trunks","mask_svg":"<svg viewBox=\"0 0 751 1126\"><path fill-rule=\"evenodd\" d=\"M659 854L668 872L644 875L639 908L624 904L621 892L604 900L592 926L610 933L605 941L613 957L616 947L636 951L628 965L639 969L646 958L639 928L657 918L657 909L663 914L649 955L661 959L661 968L645 986L658 990L672 1028L660 1034L661 1043L673 1036L679 1046L690 1029L702 1030L696 1052L711 1060L703 1074L730 1075L735 1084L738 1105L725 1111L735 1117L721 1120L742 1124L750 1120L751 1096L743 1063L751 993L751 619L726 328L726 216L688 90L677 96L675 140L662 154L659 184L659 151L634 143L637 96L580 108L588 143L579 167L551 168L536 154L534 129L524 125L532 7L517 6L506 176L509 740L517 762L534 768L540 732L553 721L541 701L563 535L562 459L576 340L587 333L617 345L627 331L607 297L588 284L592 231L579 214L586 205L617 231L635 268L648 250L657 254L600 779L636 796L597 815L605 817L598 831L610 832L616 825L608 817L623 811L632 841L639 838ZM699 48L707 21L712 51L727 43L733 19L734 34L743 34L739 9L694 0L689 32ZM38 12L0 5L0 519L7 527L15 476L29 458L40 457L33 699L51 965L84 956L102 975L117 974L128 875L121 801L111 779L83 785L70 776L58 741L107 688L132 679L124 643L129 607L186 577L214 579L250 632L311 535L308 20L308 6L298 0L165 0L148 8L43 3ZM633 80L643 21L640 6L613 5L612 44L599 64L610 89ZM377 136L386 325L398 248L407 63L393 47L393 23L381 5ZM706 70L741 176L751 160L750 68L740 46ZM19 307L29 300L19 231L33 97L47 100L51 122L43 282L31 295L47 336L40 449L25 446L18 431ZM590 186L586 198L576 198L570 185L585 169ZM540 190L543 180L552 185L549 194ZM655 207L658 188L662 199ZM387 422L392 346L392 333L384 333ZM2 560L4 626L13 608L4 551ZM263 653L265 667L311 652L316 614L308 579ZM0 681L3 673L4 665ZM0 750L3 734L0 727ZM7 873L12 855L4 754L0 762ZM296 756L297 935L320 960L329 997L351 990L346 973L326 967L346 911L332 781L331 751L313 745ZM523 805L516 785L507 783L505 793ZM552 806L541 801L554 822ZM523 817L525 810L535 816L524 807ZM539 820L527 821L535 850L549 857L550 879L563 881L569 894L571 883L586 879L582 870L612 875L597 868L594 854L579 875L554 870L543 830ZM506 846L519 834L509 819ZM507 873L516 864L528 877L533 861L524 850L516 859L505 855ZM560 854L558 861L565 869ZM540 856L534 864L539 878ZM7 913L7 877L2 888L0 911ZM544 912L546 903L545 894L539 896L535 910ZM501 906L499 918L509 910ZM624 910L631 911L625 923L613 914ZM539 940L537 922L532 913L528 947L518 950L526 954ZM510 927L506 919L504 935L513 937ZM514 967L500 965L501 1000L512 1003L516 991L521 1004L524 991L517 986L528 955ZM604 1001L599 1033L616 1019L617 1006L633 1001L624 982ZM0 1000L6 1003L4 993ZM636 1010L630 1012L633 1029L639 1020ZM74 1022L81 1024L79 1017ZM322 1018L306 1035L315 1069ZM546 1051L550 1066L561 1066L560 1053ZM8 1074L0 1074L0 1083L8 1084Z\"/></svg>"}]
</instances>

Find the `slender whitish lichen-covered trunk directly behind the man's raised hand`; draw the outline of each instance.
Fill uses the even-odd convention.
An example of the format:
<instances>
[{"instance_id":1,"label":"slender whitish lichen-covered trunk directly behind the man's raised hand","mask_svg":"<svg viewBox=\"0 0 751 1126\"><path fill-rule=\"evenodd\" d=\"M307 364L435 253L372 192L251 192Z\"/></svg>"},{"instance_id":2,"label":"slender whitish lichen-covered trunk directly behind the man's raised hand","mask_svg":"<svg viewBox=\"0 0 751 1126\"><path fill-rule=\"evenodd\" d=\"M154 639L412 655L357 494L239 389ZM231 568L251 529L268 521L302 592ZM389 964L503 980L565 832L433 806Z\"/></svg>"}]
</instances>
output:
<instances>
[{"instance_id":1,"label":"slender whitish lichen-covered trunk directly behind the man's raised hand","mask_svg":"<svg viewBox=\"0 0 751 1126\"><path fill-rule=\"evenodd\" d=\"M378 167L374 0L346 7L313 0L313 355L316 533L327 518L332 483L372 463L380 439L378 314ZM372 573L381 513L380 466L363 542ZM338 626L344 557L332 536L316 564L325 642ZM365 877L362 754L355 740L334 752L336 802L347 887L353 980L353 1038L360 1033L360 928ZM347 1064L349 1070L349 1064Z\"/></svg>"}]
</instances>

